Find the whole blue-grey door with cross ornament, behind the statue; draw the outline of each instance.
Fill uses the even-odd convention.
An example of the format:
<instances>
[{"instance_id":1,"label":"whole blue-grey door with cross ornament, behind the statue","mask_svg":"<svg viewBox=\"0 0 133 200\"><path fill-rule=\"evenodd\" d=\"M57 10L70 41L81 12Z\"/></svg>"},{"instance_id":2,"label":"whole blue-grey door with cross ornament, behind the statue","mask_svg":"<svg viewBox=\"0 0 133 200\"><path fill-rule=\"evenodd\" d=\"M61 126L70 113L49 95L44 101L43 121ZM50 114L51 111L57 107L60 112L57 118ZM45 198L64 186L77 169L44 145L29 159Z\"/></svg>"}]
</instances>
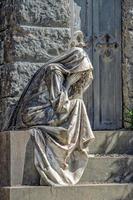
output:
<instances>
[{"instance_id":1,"label":"whole blue-grey door with cross ornament, behind the statue","mask_svg":"<svg viewBox=\"0 0 133 200\"><path fill-rule=\"evenodd\" d=\"M73 0L72 31L82 30L94 66L85 94L93 129L122 127L121 0Z\"/></svg>"}]
</instances>

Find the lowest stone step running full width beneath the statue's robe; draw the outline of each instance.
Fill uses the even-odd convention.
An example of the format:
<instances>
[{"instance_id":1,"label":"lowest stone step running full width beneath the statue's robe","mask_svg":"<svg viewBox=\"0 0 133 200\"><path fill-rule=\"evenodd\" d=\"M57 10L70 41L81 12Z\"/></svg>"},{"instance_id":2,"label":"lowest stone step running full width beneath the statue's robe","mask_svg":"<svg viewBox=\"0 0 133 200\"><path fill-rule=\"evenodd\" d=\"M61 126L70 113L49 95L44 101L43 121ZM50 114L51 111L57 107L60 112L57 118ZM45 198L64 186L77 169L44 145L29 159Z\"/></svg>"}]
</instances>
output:
<instances>
[{"instance_id":1,"label":"lowest stone step running full width beneath the statue's robe","mask_svg":"<svg viewBox=\"0 0 133 200\"><path fill-rule=\"evenodd\" d=\"M0 200L132 200L133 184L84 184L68 187L3 187Z\"/></svg>"}]
</instances>

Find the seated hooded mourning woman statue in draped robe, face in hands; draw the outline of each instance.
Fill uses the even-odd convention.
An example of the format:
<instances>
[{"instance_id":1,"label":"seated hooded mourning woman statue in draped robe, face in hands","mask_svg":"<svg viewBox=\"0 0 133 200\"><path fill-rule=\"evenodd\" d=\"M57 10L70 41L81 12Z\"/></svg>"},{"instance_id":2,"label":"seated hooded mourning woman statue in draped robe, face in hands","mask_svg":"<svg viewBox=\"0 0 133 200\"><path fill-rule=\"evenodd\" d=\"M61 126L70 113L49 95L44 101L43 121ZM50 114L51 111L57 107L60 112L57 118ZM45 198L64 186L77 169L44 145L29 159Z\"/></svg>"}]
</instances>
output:
<instances>
[{"instance_id":1,"label":"seated hooded mourning woman statue in draped robe, face in hands","mask_svg":"<svg viewBox=\"0 0 133 200\"><path fill-rule=\"evenodd\" d=\"M41 185L76 184L94 139L82 100L93 67L83 50L81 31L70 46L31 78L8 125L8 130L31 130Z\"/></svg>"}]
</instances>

